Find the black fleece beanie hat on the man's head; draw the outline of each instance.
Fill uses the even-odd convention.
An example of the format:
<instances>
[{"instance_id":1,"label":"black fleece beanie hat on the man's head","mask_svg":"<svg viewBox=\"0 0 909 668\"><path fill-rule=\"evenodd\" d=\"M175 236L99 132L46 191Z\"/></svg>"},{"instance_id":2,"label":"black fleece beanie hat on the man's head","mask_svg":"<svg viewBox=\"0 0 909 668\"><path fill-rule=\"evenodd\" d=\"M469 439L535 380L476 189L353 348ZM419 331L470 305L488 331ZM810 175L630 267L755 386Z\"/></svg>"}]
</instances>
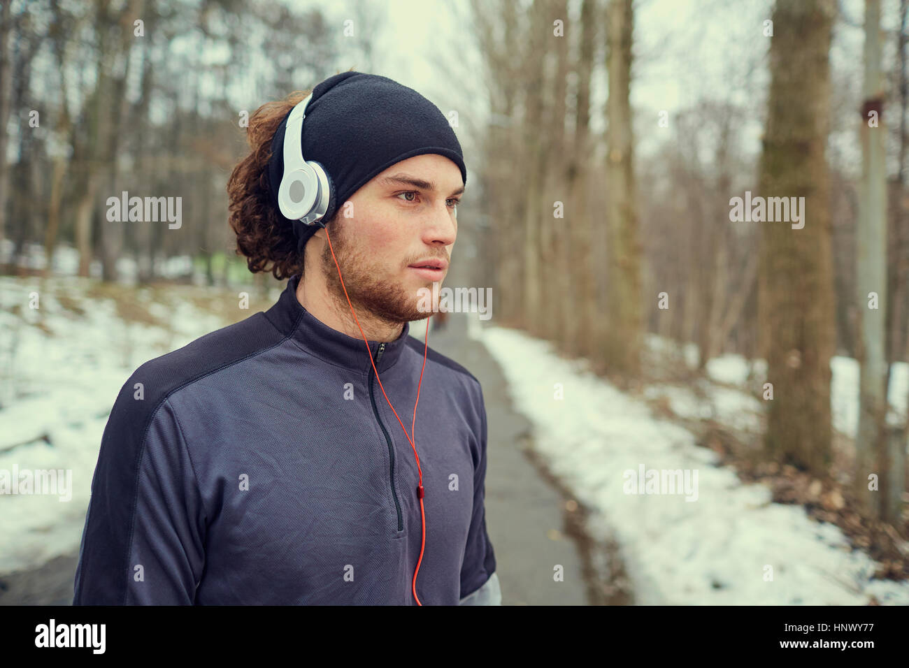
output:
<instances>
[{"instance_id":1,"label":"black fleece beanie hat on the man's head","mask_svg":"<svg viewBox=\"0 0 909 668\"><path fill-rule=\"evenodd\" d=\"M319 229L281 214L278 186L284 175L287 113L275 131L268 181L278 218L294 229L297 249ZM413 88L380 75L343 72L313 89L303 121L303 157L325 167L332 198L322 219L327 222L352 194L376 174L422 154L445 155L467 183L464 155L442 111Z\"/></svg>"}]
</instances>

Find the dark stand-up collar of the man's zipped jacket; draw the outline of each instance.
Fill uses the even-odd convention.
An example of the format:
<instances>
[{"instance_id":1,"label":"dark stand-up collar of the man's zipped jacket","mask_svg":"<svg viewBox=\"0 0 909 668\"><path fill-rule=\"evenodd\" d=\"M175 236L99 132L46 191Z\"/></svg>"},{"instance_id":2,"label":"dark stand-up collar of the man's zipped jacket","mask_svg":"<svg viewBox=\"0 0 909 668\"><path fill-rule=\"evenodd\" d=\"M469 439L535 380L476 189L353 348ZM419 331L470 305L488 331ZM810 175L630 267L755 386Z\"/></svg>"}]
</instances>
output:
<instances>
[{"instance_id":1,"label":"dark stand-up collar of the man's zipped jacket","mask_svg":"<svg viewBox=\"0 0 909 668\"><path fill-rule=\"evenodd\" d=\"M372 370L373 364L366 355L363 339L338 332L309 313L296 298L299 283L300 274L291 277L278 301L265 312L268 319L307 353L314 354L325 362L364 374ZM382 357L375 364L379 374L395 365L407 346L409 333L410 324L405 323L404 331L395 341L385 342ZM374 359L379 346L378 341L369 342L369 350Z\"/></svg>"}]
</instances>

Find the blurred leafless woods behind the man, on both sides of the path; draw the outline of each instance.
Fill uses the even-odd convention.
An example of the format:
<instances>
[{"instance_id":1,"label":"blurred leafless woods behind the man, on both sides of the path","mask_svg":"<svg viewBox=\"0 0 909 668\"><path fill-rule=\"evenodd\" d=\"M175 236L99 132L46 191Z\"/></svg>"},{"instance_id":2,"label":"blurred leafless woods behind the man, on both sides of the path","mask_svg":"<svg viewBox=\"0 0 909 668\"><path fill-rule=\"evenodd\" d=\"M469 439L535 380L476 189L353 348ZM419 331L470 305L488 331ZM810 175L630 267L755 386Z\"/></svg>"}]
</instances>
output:
<instances>
[{"instance_id":1,"label":"blurred leafless woods behind the man, on both sides of the path","mask_svg":"<svg viewBox=\"0 0 909 668\"><path fill-rule=\"evenodd\" d=\"M482 71L434 66L483 95L482 121L458 110L476 182L459 220L496 324L624 387L654 374L648 334L694 344L699 372L721 354L763 359L763 456L818 476L833 458L830 359L856 358L849 501L905 537L909 431L886 415L892 365L909 361L909 2L767 4L752 25L758 51L741 54L753 76L672 114L632 104L641 3L453 5ZM0 271L63 272L67 247L75 274L104 281L160 281L173 258L186 280L254 280L226 223L244 115L352 65L370 71L372 35L395 20L380 4L351 4L349 25L296 6L3 2ZM859 77L831 66L837 31L861 35L844 55ZM754 124L757 153L744 136ZM658 149L638 155L643 135ZM108 222L105 202L123 191L182 195L181 229ZM804 196L804 228L733 222L730 200L745 191ZM755 392L767 399L766 385Z\"/></svg>"}]
</instances>

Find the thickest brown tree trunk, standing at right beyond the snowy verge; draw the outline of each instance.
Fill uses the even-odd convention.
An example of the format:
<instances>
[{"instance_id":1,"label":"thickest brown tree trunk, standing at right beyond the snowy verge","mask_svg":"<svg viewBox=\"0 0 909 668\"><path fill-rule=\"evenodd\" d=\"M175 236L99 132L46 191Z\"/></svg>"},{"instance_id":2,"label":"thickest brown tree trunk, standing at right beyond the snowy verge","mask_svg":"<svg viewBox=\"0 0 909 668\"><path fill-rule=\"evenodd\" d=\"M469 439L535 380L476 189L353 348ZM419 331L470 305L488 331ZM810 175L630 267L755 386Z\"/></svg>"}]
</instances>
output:
<instances>
[{"instance_id":1,"label":"thickest brown tree trunk, standing at right beyond the snowy verge","mask_svg":"<svg viewBox=\"0 0 909 668\"><path fill-rule=\"evenodd\" d=\"M752 223L762 233L758 321L767 380L774 384L766 454L817 475L831 453L834 295L824 146L835 9L834 0L777 0L774 7L759 195L804 197L804 228Z\"/></svg>"}]
</instances>

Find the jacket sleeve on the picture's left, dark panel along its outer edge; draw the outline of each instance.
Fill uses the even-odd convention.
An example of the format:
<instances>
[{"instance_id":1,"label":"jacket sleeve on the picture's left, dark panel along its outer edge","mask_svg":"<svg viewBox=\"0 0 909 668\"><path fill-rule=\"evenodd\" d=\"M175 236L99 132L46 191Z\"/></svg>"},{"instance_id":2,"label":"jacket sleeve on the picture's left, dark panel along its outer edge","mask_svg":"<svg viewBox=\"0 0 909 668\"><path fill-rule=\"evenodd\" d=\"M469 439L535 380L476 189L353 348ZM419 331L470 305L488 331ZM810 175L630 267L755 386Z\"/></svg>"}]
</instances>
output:
<instances>
[{"instance_id":1,"label":"jacket sleeve on the picture's left, dark panel along its outer edge","mask_svg":"<svg viewBox=\"0 0 909 668\"><path fill-rule=\"evenodd\" d=\"M205 565L202 496L172 406L146 408L131 381L102 437L73 604L189 605Z\"/></svg>"}]
</instances>

